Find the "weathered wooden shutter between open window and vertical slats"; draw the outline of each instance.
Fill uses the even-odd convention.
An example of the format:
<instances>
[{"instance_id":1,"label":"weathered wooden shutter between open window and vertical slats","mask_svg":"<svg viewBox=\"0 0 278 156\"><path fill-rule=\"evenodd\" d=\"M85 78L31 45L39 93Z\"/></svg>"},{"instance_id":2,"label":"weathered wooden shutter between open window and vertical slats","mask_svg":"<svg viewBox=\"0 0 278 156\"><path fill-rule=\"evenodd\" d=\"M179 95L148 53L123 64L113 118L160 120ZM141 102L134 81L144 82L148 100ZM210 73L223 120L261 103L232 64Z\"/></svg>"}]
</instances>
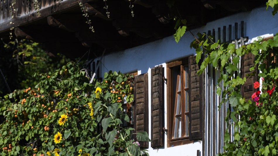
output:
<instances>
[{"instance_id":1,"label":"weathered wooden shutter between open window and vertical slats","mask_svg":"<svg viewBox=\"0 0 278 156\"><path fill-rule=\"evenodd\" d=\"M201 139L202 138L202 98L203 95L203 77L197 75L199 70L198 64L196 64L196 57L191 56L188 60L189 71L189 139Z\"/></svg>"}]
</instances>

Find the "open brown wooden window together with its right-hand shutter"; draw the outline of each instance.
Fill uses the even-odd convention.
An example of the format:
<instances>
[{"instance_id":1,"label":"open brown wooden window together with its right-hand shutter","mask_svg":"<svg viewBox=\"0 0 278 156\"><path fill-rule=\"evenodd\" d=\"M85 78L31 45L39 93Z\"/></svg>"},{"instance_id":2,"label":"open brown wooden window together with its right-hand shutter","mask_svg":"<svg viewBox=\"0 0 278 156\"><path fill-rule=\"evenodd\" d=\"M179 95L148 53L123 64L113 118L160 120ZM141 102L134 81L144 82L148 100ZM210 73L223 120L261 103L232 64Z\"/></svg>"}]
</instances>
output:
<instances>
[{"instance_id":1,"label":"open brown wooden window together with its right-hand shutter","mask_svg":"<svg viewBox=\"0 0 278 156\"><path fill-rule=\"evenodd\" d=\"M192 143L202 132L202 78L195 57L167 63L167 146ZM200 86L200 87L199 87Z\"/></svg>"}]
</instances>

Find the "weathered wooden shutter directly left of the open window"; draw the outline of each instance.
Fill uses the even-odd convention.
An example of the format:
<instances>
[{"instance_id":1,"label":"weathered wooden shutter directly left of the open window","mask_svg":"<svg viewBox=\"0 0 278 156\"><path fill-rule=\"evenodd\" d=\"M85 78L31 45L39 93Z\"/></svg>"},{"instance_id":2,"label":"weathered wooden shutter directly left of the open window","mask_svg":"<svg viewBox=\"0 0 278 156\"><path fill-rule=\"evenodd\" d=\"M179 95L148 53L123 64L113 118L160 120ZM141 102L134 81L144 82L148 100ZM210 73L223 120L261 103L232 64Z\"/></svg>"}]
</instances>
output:
<instances>
[{"instance_id":1,"label":"weathered wooden shutter directly left of the open window","mask_svg":"<svg viewBox=\"0 0 278 156\"><path fill-rule=\"evenodd\" d=\"M152 148L163 145L164 82L162 65L151 70L151 138Z\"/></svg>"}]
</instances>

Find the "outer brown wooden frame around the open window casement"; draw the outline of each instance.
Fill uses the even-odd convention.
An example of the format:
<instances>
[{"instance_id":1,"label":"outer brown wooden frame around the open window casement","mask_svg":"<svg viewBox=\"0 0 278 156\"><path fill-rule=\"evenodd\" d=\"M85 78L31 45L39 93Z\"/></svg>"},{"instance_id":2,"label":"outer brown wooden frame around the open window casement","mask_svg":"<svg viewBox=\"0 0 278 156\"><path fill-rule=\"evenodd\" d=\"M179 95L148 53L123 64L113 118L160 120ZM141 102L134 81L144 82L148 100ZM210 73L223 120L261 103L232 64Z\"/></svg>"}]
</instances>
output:
<instances>
[{"instance_id":1,"label":"outer brown wooden frame around the open window casement","mask_svg":"<svg viewBox=\"0 0 278 156\"><path fill-rule=\"evenodd\" d=\"M172 67L187 65L188 66L188 57L172 61L167 63L167 147L184 145L188 143L193 143L193 141L189 140L189 136L181 137L181 138L172 138L172 128L173 128L173 119L174 119L174 91L173 91L173 69ZM182 73L181 73L182 74ZM182 81L181 83L184 83ZM188 84L190 85L190 84ZM184 89L181 89L184 90ZM189 90L189 89L188 89ZM190 95L190 94L189 94ZM190 100L189 100L190 103ZM189 108L190 109L190 108ZM183 113L185 114L185 113ZM183 120L185 121L185 120ZM190 128L190 127L189 127ZM190 135L190 133L188 133Z\"/></svg>"}]
</instances>

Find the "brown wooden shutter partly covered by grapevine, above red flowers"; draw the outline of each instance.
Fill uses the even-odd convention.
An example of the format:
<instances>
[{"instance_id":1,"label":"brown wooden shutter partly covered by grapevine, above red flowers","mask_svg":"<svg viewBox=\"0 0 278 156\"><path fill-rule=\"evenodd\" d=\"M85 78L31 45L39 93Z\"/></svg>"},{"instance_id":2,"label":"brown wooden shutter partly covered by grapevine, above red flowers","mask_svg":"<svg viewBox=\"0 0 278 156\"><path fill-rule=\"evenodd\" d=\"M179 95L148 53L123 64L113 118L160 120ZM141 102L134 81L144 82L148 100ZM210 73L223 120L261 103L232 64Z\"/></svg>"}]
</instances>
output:
<instances>
[{"instance_id":1,"label":"brown wooden shutter partly covered by grapevine, above red flowers","mask_svg":"<svg viewBox=\"0 0 278 156\"><path fill-rule=\"evenodd\" d=\"M246 82L241 86L241 95L246 101L252 100L252 94L257 91L254 89L254 82L258 81L257 67L255 67L255 72L250 71L250 67L254 66L255 56L252 53L244 54L241 57L241 76L246 77ZM253 73L252 76L250 76Z\"/></svg>"}]
</instances>

